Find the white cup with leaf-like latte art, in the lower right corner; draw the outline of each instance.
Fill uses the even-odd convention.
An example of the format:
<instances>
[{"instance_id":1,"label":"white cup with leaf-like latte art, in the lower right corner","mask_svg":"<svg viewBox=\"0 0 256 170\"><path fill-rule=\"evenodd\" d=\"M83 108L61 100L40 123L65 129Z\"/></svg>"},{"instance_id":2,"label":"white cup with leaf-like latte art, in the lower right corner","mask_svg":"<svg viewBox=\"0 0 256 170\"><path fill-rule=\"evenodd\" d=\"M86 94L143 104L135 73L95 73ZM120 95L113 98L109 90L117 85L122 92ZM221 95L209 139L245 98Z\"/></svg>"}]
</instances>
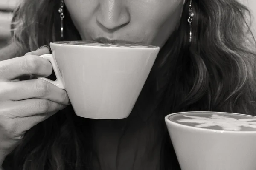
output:
<instances>
[{"instance_id":1,"label":"white cup with leaf-like latte art, in the lower right corner","mask_svg":"<svg viewBox=\"0 0 256 170\"><path fill-rule=\"evenodd\" d=\"M165 117L181 170L256 170L256 117L183 112Z\"/></svg>"}]
</instances>

